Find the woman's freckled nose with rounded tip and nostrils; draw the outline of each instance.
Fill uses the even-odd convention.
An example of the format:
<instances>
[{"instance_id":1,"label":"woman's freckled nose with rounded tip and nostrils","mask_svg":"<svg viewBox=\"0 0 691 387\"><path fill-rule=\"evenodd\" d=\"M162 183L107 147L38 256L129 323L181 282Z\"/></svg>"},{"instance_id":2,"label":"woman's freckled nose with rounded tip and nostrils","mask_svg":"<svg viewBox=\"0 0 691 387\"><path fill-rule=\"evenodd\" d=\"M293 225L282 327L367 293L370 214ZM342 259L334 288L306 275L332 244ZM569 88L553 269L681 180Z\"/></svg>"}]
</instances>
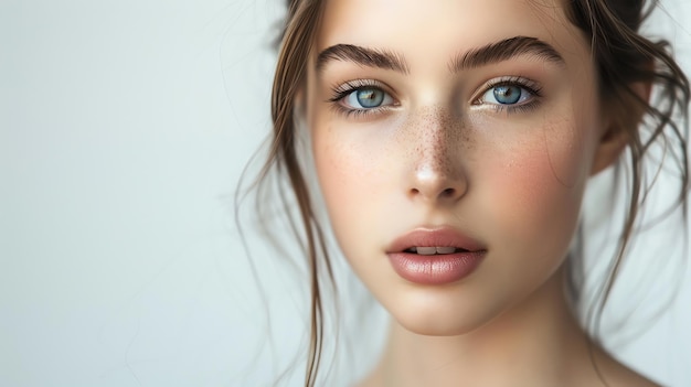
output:
<instances>
[{"instance_id":1,"label":"woman's freckled nose with rounded tip and nostrils","mask_svg":"<svg viewBox=\"0 0 691 387\"><path fill-rule=\"evenodd\" d=\"M446 125L444 123L446 122ZM459 138L458 125L448 125L448 119L437 122L427 120L418 130L414 163L411 165L407 194L412 200L435 203L455 203L468 191L468 179L464 170L464 153L467 151Z\"/></svg>"}]
</instances>

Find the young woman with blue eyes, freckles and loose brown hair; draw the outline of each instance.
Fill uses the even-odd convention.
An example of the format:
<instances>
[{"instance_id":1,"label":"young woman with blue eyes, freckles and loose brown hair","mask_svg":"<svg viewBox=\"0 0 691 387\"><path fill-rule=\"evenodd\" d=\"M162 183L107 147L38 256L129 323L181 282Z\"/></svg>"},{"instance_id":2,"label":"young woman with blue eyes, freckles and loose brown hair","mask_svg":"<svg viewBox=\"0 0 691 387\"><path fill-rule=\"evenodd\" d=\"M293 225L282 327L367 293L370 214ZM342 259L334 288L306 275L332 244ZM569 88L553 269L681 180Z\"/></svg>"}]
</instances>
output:
<instances>
[{"instance_id":1,"label":"young woman with blue eyes, freckles and loose brown hair","mask_svg":"<svg viewBox=\"0 0 691 387\"><path fill-rule=\"evenodd\" d=\"M299 205L306 385L323 340L319 272L330 272L321 194L340 250L392 316L362 386L655 386L594 343L567 291L592 175L623 161L632 176L599 311L650 143L680 149L685 205L685 128L672 118L689 85L665 45L637 33L644 14L621 0L290 1L264 176L287 176ZM321 193L298 160L301 130Z\"/></svg>"}]
</instances>

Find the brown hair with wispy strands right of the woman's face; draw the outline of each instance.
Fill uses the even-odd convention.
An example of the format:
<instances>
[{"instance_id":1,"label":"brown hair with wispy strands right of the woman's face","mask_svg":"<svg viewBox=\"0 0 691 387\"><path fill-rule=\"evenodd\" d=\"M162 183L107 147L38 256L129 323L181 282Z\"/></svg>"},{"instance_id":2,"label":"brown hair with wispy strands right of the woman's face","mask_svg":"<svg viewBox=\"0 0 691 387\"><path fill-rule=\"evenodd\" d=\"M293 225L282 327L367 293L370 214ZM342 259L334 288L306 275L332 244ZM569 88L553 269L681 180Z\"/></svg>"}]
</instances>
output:
<instances>
[{"instance_id":1,"label":"brown hair with wispy strands right of the woman's face","mask_svg":"<svg viewBox=\"0 0 691 387\"><path fill-rule=\"evenodd\" d=\"M615 176L628 172L629 201L617 252L612 262L607 279L602 287L602 298L597 308L589 313L588 321L596 326L607 303L617 273L621 268L627 247L637 222L639 209L645 203L652 183L648 181L644 160L650 154L651 146L658 142L667 148L677 147L677 166L680 171L681 187L673 206L682 207L687 223L687 195L689 190L688 164L688 107L690 98L689 80L671 56L667 41L650 41L638 33L641 23L650 15L658 1L645 0L571 0L568 17L591 40L591 50L597 64L600 96L604 104L618 112L620 127L627 138L628 160L620 159ZM657 85L657 101L651 104L631 89L635 83ZM639 111L649 118L641 125ZM680 114L681 117L676 117ZM681 126L674 121L680 118ZM645 133L645 130L648 130ZM628 164L621 162L628 161ZM662 161L660 161L661 163ZM627 168L627 171L621 171ZM655 182L655 178L651 180ZM672 208L669 208L672 209ZM577 284L576 284L576 291Z\"/></svg>"}]
</instances>

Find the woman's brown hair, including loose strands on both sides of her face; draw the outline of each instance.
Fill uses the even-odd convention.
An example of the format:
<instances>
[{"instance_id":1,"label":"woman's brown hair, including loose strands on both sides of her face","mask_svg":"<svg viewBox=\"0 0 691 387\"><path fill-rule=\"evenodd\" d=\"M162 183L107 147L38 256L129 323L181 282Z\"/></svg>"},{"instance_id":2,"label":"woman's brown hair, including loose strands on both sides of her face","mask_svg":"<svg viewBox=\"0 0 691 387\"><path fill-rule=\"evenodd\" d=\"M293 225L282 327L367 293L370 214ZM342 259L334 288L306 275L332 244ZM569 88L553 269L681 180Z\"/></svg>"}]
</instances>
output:
<instances>
[{"instance_id":1,"label":"woman's brown hair, including loose strands on both sides of her face","mask_svg":"<svg viewBox=\"0 0 691 387\"><path fill-rule=\"evenodd\" d=\"M644 186L647 180L644 176L642 161L657 141L677 147L681 190L676 205L683 208L685 221L689 187L685 141L690 90L687 77L668 51L669 44L665 41L650 41L638 33L640 24L657 1L651 2L648 8L645 8L645 0L563 1L568 2L571 22L591 41L592 54L599 73L603 103L621 112L619 127L625 131L628 142L628 214L616 256L603 286L604 297L600 298L596 313L599 315L627 252L638 211L650 189L650 185ZM268 159L257 180L261 192L272 172L276 172L279 179L287 178L293 198L297 201L299 208L297 219L290 214L288 216L293 233L306 252L310 276L311 329L306 386L313 386L317 380L323 342L322 284L319 277L320 272L326 272L333 283L333 276L325 236L317 222L296 152L295 100L305 82L307 57L319 29L322 4L323 1L320 0L288 0L288 15L281 34L273 85L273 138ZM659 100L655 106L632 90L631 84L638 82L658 86ZM640 116L625 114L631 109L647 115L649 125L639 125ZM674 121L676 114L680 114L681 126ZM648 133L642 132L646 129L649 130ZM620 168L620 164L617 165L617 171ZM279 192L279 197L280 203L287 206L288 200L283 191Z\"/></svg>"}]
</instances>

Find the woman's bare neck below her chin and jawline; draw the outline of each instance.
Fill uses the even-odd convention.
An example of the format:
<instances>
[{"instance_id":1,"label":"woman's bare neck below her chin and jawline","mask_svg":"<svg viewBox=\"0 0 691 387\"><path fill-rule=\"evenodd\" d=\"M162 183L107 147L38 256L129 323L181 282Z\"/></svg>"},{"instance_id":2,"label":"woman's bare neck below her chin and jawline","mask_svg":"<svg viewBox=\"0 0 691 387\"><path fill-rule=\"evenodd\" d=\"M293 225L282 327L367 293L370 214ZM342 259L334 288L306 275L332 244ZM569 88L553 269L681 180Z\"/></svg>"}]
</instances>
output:
<instances>
[{"instance_id":1,"label":"woman's bare neck below her chin and jawline","mask_svg":"<svg viewBox=\"0 0 691 387\"><path fill-rule=\"evenodd\" d=\"M365 386L564 386L592 379L588 338L559 272L527 300L460 336L425 336L393 323ZM581 381L575 381L581 380Z\"/></svg>"}]
</instances>

